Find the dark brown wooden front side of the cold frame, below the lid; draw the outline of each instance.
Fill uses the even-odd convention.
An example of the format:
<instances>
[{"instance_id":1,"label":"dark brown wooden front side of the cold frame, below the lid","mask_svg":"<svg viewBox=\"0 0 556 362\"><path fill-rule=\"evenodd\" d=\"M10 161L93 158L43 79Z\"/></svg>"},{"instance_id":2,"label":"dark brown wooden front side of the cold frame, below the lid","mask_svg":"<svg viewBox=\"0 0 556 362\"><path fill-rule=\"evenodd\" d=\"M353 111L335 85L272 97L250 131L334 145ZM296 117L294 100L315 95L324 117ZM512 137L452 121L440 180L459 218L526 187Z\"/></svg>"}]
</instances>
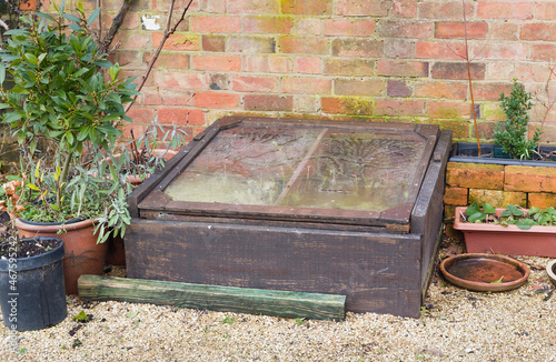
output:
<instances>
[{"instance_id":1,"label":"dark brown wooden front side of the cold frame, below the lid","mask_svg":"<svg viewBox=\"0 0 556 362\"><path fill-rule=\"evenodd\" d=\"M342 294L353 312L418 316L420 235L133 219L129 278Z\"/></svg>"}]
</instances>

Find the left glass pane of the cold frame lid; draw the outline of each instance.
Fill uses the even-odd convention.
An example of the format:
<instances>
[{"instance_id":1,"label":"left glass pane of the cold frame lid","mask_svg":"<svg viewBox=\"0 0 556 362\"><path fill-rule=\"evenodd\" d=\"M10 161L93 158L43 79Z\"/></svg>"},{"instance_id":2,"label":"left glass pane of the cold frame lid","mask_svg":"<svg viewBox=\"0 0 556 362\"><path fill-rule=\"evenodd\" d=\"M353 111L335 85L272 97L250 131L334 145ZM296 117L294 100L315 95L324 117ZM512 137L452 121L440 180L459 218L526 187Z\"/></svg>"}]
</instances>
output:
<instances>
[{"instance_id":1,"label":"left glass pane of the cold frame lid","mask_svg":"<svg viewBox=\"0 0 556 362\"><path fill-rule=\"evenodd\" d=\"M220 131L166 190L178 201L272 205L321 130Z\"/></svg>"}]
</instances>

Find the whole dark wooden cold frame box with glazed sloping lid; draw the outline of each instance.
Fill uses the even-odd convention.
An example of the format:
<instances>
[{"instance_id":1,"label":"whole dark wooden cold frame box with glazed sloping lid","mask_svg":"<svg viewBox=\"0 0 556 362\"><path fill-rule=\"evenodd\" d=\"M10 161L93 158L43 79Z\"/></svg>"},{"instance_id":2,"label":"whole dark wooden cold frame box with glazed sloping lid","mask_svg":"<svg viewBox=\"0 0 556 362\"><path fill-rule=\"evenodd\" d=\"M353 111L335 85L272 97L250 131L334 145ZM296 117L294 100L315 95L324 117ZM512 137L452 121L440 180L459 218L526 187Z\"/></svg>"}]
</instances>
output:
<instances>
[{"instance_id":1,"label":"whole dark wooden cold frame box with glazed sloping lid","mask_svg":"<svg viewBox=\"0 0 556 362\"><path fill-rule=\"evenodd\" d=\"M431 124L224 118L130 195L128 276L418 316L450 144Z\"/></svg>"}]
</instances>

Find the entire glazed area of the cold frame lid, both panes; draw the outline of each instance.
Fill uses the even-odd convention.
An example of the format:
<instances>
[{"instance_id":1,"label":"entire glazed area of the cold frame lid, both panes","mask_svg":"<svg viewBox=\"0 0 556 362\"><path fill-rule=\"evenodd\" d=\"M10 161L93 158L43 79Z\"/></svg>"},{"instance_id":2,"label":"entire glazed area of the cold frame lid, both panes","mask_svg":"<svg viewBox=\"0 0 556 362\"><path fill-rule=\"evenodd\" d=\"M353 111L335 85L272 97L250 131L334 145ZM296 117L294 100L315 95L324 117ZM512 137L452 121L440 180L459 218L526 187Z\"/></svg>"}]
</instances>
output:
<instances>
[{"instance_id":1,"label":"entire glazed area of the cold frame lid, both panes","mask_svg":"<svg viewBox=\"0 0 556 362\"><path fill-rule=\"evenodd\" d=\"M406 202L425 138L295 127L220 131L165 192L177 201L384 211Z\"/></svg>"}]
</instances>

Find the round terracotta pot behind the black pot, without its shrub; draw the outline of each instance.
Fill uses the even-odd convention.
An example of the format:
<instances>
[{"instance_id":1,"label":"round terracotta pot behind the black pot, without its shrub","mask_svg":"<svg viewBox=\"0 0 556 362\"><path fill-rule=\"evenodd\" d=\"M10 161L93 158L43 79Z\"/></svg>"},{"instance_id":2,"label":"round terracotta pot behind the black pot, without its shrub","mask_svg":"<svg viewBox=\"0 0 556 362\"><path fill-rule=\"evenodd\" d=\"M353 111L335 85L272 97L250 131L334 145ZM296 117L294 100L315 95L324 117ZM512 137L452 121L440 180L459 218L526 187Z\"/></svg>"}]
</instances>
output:
<instances>
[{"instance_id":1,"label":"round terracotta pot behind the black pot, without its shrub","mask_svg":"<svg viewBox=\"0 0 556 362\"><path fill-rule=\"evenodd\" d=\"M63 241L63 275L66 293L77 294L77 280L82 274L102 274L107 244L97 244L93 220L59 223L29 223L17 219L16 228L20 238L52 237ZM61 233L58 233L59 231Z\"/></svg>"}]
</instances>

